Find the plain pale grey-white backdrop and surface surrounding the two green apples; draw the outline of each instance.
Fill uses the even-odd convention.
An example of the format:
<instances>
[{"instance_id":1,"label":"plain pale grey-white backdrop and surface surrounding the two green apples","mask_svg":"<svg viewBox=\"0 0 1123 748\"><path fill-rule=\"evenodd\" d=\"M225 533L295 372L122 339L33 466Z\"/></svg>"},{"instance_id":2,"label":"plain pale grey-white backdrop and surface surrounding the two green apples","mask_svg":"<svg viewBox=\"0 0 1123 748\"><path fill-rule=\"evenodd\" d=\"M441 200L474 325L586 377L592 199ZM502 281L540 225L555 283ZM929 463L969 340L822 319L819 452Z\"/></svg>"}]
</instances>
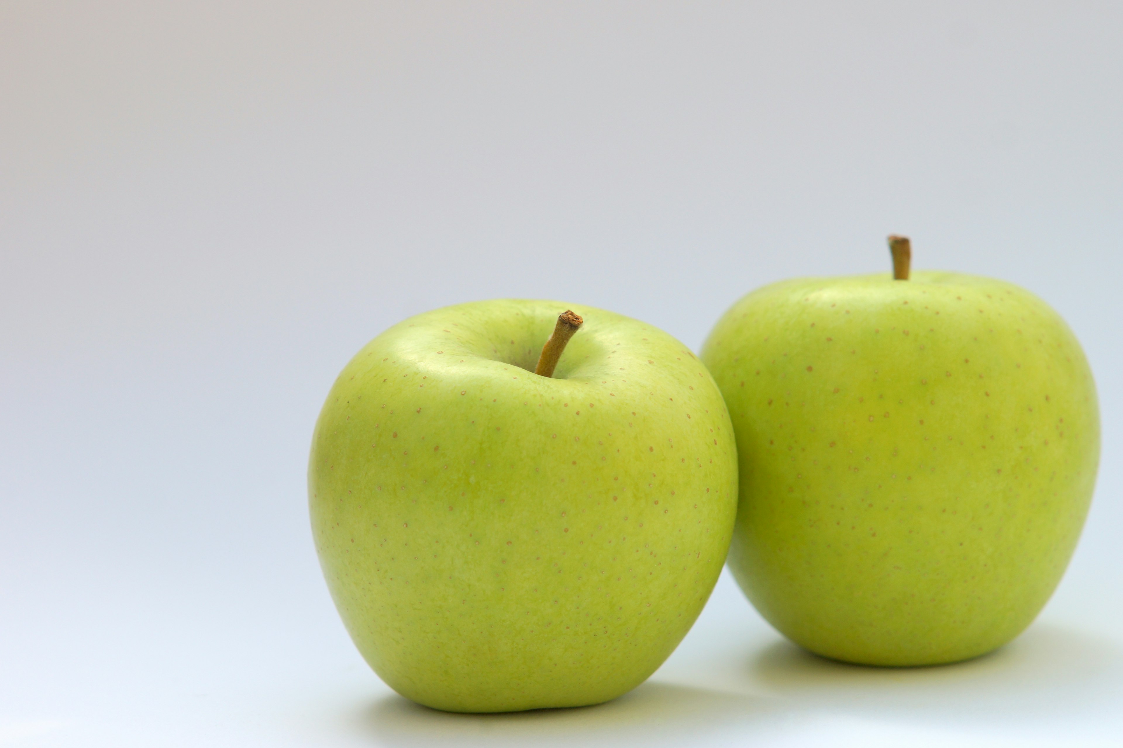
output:
<instances>
[{"instance_id":1,"label":"plain pale grey-white backdrop and surface surrounding the two green apples","mask_svg":"<svg viewBox=\"0 0 1123 748\"><path fill-rule=\"evenodd\" d=\"M1123 4L0 0L0 745L1119 745ZM973 663L802 654L722 578L611 704L392 694L308 528L402 317L554 297L695 350L741 294L1021 284L1096 373L1060 589Z\"/></svg>"}]
</instances>

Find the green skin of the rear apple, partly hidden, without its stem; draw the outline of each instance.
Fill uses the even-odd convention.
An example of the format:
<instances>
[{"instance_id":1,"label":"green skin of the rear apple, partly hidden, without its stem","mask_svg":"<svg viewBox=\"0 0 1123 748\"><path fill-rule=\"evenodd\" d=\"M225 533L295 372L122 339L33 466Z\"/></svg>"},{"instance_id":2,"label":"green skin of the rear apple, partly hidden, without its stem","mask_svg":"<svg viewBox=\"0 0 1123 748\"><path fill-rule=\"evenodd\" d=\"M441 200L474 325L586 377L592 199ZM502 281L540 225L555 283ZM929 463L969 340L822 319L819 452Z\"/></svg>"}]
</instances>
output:
<instances>
[{"instance_id":1,"label":"green skin of the rear apple, partly hidden, without its stem","mask_svg":"<svg viewBox=\"0 0 1123 748\"><path fill-rule=\"evenodd\" d=\"M1006 644L1060 581L1099 456L1095 385L1041 299L952 273L741 298L702 352L733 422L729 565L796 644L933 665Z\"/></svg>"}]
</instances>

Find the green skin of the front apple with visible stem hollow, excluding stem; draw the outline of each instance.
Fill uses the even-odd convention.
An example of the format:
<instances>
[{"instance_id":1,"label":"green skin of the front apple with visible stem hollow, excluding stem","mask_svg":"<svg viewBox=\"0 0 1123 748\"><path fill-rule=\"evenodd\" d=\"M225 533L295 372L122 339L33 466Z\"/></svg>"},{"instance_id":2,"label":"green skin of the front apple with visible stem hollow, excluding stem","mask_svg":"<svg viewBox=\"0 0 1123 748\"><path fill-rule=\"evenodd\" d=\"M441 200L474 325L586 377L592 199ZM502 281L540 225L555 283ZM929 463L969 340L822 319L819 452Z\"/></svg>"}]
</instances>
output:
<instances>
[{"instance_id":1,"label":"green skin of the front apple with visible stem hollow, excluding stem","mask_svg":"<svg viewBox=\"0 0 1123 748\"><path fill-rule=\"evenodd\" d=\"M553 378L560 312L585 324ZM636 320L478 302L391 327L316 425L316 547L371 667L436 709L601 703L705 604L737 514L737 449L697 358Z\"/></svg>"}]
</instances>

